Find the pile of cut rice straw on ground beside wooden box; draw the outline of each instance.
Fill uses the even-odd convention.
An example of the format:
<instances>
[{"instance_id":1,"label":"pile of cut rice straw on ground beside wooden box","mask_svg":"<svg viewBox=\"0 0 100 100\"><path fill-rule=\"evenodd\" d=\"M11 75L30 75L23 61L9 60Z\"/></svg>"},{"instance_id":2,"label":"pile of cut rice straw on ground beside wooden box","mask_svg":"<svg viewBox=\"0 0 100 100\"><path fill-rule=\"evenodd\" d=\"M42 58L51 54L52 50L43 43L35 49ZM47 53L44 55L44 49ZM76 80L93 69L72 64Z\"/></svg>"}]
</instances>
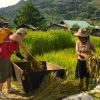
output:
<instances>
[{"instance_id":1,"label":"pile of cut rice straw on ground beside wooden box","mask_svg":"<svg viewBox=\"0 0 100 100\"><path fill-rule=\"evenodd\" d=\"M32 100L62 100L78 93L78 83L74 80L61 79L56 73L46 75L40 87L34 91Z\"/></svg>"}]
</instances>

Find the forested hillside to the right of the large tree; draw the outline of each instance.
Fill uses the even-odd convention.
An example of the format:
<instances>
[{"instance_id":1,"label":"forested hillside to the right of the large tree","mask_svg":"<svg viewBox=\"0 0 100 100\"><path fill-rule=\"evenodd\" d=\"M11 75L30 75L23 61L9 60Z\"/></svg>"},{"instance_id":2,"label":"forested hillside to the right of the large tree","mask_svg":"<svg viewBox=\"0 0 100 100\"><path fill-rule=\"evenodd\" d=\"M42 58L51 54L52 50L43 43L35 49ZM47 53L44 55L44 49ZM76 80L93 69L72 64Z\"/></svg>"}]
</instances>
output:
<instances>
[{"instance_id":1,"label":"forested hillside to the right of the large tree","mask_svg":"<svg viewBox=\"0 0 100 100\"><path fill-rule=\"evenodd\" d=\"M59 20L100 21L98 0L31 0L43 13L48 23Z\"/></svg>"}]
</instances>

